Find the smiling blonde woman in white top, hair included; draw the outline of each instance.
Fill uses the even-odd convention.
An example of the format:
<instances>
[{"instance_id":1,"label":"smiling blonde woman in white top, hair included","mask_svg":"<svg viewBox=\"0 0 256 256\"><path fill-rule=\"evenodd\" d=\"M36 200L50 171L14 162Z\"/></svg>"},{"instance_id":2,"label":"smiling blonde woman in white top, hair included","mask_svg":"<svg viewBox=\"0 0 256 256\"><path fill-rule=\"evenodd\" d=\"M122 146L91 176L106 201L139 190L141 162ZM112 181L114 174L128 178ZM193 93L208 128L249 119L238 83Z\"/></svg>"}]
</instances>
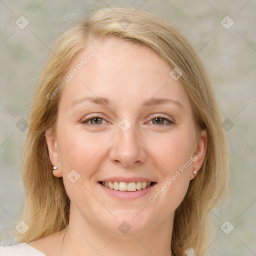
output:
<instances>
[{"instance_id":1,"label":"smiling blonde woman in white top, hair included","mask_svg":"<svg viewBox=\"0 0 256 256\"><path fill-rule=\"evenodd\" d=\"M129 6L79 17L33 96L18 244L1 255L213 255L221 122L201 60L167 20Z\"/></svg>"}]
</instances>

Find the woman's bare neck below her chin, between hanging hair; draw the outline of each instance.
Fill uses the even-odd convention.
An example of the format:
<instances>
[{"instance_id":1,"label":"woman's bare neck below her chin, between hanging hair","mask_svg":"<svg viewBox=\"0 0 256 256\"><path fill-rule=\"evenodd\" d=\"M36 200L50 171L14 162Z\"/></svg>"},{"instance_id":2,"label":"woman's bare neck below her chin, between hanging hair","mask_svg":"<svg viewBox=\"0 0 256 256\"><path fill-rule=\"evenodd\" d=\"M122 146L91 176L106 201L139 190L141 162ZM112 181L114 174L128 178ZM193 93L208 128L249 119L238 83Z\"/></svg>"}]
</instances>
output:
<instances>
[{"instance_id":1,"label":"woman's bare neck below her chin, between hanging hair","mask_svg":"<svg viewBox=\"0 0 256 256\"><path fill-rule=\"evenodd\" d=\"M131 231L131 230L130 230ZM156 223L142 232L126 234L104 231L84 220L72 219L63 234L61 256L93 255L93 256L169 256L172 221Z\"/></svg>"}]
</instances>

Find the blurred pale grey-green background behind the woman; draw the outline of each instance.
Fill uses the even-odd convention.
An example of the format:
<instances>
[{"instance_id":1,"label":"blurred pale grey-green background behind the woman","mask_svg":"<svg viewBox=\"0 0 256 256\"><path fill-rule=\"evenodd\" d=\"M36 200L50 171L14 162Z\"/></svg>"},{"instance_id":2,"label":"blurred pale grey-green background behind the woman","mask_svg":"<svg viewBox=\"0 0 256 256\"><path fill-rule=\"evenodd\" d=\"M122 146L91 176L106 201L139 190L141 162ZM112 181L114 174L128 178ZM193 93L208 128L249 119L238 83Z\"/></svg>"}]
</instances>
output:
<instances>
[{"instance_id":1,"label":"blurred pale grey-green background behind the woman","mask_svg":"<svg viewBox=\"0 0 256 256\"><path fill-rule=\"evenodd\" d=\"M21 150L42 56L70 13L132 4L168 18L210 73L231 150L232 198L217 225L217 256L256 255L255 0L0 0L0 234L24 202ZM2 244L1 244L2 245Z\"/></svg>"}]
</instances>

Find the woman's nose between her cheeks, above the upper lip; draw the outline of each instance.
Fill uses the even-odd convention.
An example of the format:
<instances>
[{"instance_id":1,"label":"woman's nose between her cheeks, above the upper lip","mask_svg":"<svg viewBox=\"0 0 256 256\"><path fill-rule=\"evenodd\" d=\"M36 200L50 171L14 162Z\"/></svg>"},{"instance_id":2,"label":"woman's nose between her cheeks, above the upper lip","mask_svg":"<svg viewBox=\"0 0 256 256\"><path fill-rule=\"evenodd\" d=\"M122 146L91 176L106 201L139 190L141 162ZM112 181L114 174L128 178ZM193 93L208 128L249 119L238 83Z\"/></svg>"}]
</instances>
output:
<instances>
[{"instance_id":1,"label":"woman's nose between her cheeks, above the upper lip","mask_svg":"<svg viewBox=\"0 0 256 256\"><path fill-rule=\"evenodd\" d=\"M135 125L123 131L117 126L117 134L113 137L109 158L114 163L125 167L134 167L146 160L146 145Z\"/></svg>"}]
</instances>

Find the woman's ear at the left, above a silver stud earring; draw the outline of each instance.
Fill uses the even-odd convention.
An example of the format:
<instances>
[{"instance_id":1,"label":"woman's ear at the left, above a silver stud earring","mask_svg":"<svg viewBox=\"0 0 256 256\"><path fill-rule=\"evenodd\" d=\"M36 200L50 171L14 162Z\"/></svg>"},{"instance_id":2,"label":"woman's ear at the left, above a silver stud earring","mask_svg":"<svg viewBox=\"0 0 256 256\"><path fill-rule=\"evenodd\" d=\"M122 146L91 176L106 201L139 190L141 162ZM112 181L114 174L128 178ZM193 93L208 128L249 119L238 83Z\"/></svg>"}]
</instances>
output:
<instances>
[{"instance_id":1,"label":"woman's ear at the left, above a silver stud earring","mask_svg":"<svg viewBox=\"0 0 256 256\"><path fill-rule=\"evenodd\" d=\"M50 162L53 166L57 166L56 170L52 170L52 174L55 177L61 177L62 172L61 163L59 162L57 139L55 138L52 129L47 129L45 131L45 139L48 147Z\"/></svg>"}]
</instances>

